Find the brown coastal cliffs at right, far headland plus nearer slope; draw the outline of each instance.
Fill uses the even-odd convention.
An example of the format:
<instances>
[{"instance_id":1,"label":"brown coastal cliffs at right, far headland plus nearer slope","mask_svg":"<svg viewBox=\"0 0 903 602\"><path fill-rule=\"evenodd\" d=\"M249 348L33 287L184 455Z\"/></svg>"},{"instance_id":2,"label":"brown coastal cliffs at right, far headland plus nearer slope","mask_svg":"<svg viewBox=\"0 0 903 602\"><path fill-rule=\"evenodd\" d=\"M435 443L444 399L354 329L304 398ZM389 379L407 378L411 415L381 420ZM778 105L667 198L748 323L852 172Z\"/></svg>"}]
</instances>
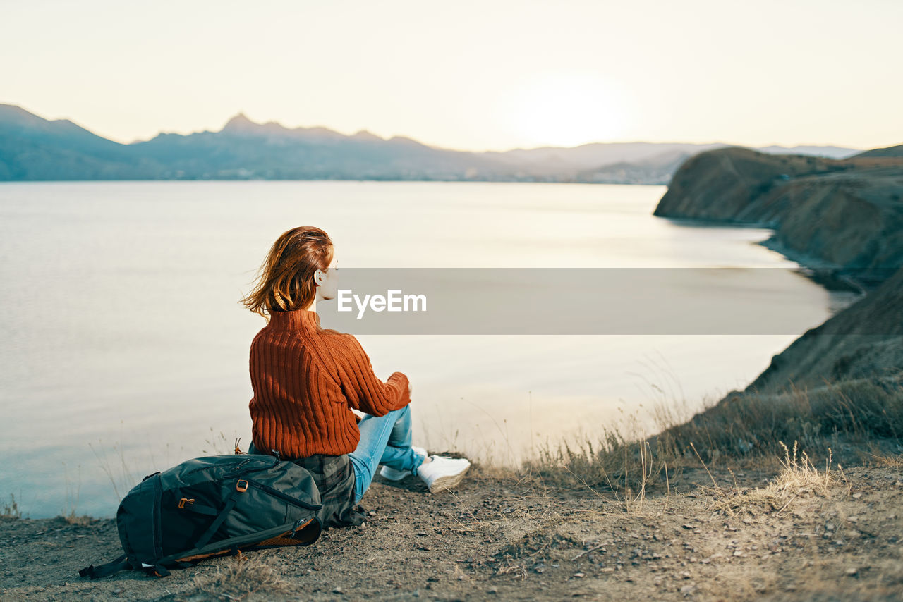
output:
<instances>
[{"instance_id":1,"label":"brown coastal cliffs at right, far headland plus nearer slope","mask_svg":"<svg viewBox=\"0 0 903 602\"><path fill-rule=\"evenodd\" d=\"M684 162L654 214L770 227L762 244L870 292L797 338L747 392L903 367L903 147L832 160L730 147Z\"/></svg>"}]
</instances>

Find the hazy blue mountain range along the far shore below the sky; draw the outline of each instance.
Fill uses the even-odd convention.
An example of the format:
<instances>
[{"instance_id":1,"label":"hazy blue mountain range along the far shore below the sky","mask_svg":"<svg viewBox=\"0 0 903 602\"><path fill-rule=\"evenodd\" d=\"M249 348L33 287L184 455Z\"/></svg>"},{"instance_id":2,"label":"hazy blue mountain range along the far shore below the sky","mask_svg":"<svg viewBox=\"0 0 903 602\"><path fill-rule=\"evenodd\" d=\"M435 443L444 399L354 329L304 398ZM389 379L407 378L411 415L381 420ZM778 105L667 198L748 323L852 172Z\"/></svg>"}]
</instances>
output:
<instances>
[{"instance_id":1,"label":"hazy blue mountain range along the far shore below the sky","mask_svg":"<svg viewBox=\"0 0 903 602\"><path fill-rule=\"evenodd\" d=\"M732 144L591 143L505 152L438 148L366 130L256 123L239 113L219 132L157 134L121 144L69 119L0 104L0 181L435 180L667 184L697 153ZM768 146L762 153L843 159L859 149Z\"/></svg>"}]
</instances>

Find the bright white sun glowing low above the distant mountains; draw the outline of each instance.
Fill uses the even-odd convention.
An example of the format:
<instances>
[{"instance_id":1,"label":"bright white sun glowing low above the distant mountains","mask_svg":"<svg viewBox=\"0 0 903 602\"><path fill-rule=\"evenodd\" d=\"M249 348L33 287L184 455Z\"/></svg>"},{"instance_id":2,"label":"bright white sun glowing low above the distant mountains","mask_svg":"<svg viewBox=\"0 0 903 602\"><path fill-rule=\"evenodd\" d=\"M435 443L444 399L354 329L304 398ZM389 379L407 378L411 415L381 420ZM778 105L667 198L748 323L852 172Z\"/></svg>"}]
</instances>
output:
<instances>
[{"instance_id":1,"label":"bright white sun glowing low above the distant mountains","mask_svg":"<svg viewBox=\"0 0 903 602\"><path fill-rule=\"evenodd\" d=\"M594 73L537 75L513 90L505 105L507 127L537 146L604 142L628 122L619 88Z\"/></svg>"}]
</instances>

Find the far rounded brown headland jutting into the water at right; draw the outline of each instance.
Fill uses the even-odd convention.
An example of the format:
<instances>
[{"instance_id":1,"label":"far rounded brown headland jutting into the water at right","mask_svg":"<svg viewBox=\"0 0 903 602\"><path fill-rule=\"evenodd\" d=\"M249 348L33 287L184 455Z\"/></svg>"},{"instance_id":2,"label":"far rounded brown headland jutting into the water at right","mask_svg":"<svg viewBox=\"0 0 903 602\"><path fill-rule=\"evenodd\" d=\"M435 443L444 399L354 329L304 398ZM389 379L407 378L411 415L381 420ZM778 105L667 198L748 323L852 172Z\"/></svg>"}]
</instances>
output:
<instances>
[{"instance_id":1,"label":"far rounded brown headland jutting into the water at right","mask_svg":"<svg viewBox=\"0 0 903 602\"><path fill-rule=\"evenodd\" d=\"M903 157L707 151L675 172L654 215L771 227L765 245L873 286L903 265Z\"/></svg>"}]
</instances>

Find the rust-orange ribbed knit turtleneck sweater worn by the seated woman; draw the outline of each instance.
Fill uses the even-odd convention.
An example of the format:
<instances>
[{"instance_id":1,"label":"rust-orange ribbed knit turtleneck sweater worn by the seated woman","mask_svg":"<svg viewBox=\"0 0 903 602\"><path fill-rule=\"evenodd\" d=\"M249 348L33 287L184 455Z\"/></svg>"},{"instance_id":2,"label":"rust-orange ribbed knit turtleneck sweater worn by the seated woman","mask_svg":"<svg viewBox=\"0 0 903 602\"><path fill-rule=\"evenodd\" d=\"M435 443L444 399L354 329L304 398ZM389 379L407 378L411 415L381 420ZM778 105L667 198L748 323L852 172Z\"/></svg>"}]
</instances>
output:
<instances>
[{"instance_id":1,"label":"rust-orange ribbed knit turtleneck sweater worn by the seated woman","mask_svg":"<svg viewBox=\"0 0 903 602\"><path fill-rule=\"evenodd\" d=\"M272 312L251 343L250 372L254 445L282 458L350 453L360 440L350 408L384 416L411 402L407 376L383 383L358 339L321 329L310 310Z\"/></svg>"}]
</instances>

